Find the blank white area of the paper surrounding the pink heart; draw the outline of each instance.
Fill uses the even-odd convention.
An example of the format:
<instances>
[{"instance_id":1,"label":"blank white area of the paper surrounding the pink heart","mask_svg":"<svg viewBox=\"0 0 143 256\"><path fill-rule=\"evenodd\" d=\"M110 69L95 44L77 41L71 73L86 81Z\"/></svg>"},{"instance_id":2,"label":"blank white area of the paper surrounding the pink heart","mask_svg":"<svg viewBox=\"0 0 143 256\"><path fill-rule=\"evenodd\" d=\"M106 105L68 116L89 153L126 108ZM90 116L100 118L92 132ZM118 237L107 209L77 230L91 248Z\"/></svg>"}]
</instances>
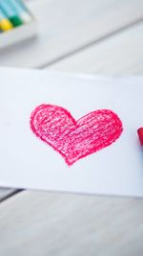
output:
<instances>
[{"instance_id":1,"label":"blank white area of the paper surrounding the pink heart","mask_svg":"<svg viewBox=\"0 0 143 256\"><path fill-rule=\"evenodd\" d=\"M47 71L0 69L0 186L143 197L143 79L104 79ZM120 138L69 167L31 131L31 111L42 104L67 108L74 119L112 109Z\"/></svg>"}]
</instances>

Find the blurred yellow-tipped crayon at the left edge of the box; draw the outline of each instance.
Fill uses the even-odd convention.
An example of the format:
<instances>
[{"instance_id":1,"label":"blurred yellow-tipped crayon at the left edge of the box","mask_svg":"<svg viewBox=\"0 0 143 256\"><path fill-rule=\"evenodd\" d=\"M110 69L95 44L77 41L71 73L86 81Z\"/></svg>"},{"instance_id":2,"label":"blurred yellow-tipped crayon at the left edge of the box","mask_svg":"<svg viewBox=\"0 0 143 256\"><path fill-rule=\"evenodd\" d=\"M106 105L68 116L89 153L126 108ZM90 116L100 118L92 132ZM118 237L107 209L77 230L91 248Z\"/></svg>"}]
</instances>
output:
<instances>
[{"instance_id":1,"label":"blurred yellow-tipped crayon at the left edge of the box","mask_svg":"<svg viewBox=\"0 0 143 256\"><path fill-rule=\"evenodd\" d=\"M10 31L13 28L6 14L0 9L0 32Z\"/></svg>"}]
</instances>

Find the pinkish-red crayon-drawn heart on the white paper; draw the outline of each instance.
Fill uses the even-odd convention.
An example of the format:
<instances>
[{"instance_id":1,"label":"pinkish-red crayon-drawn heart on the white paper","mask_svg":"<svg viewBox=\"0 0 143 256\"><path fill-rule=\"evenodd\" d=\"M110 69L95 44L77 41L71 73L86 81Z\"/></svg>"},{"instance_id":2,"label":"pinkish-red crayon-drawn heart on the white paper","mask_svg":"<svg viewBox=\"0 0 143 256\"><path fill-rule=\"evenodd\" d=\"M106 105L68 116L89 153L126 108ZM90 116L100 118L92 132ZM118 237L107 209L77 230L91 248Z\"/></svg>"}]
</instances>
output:
<instances>
[{"instance_id":1,"label":"pinkish-red crayon-drawn heart on the white paper","mask_svg":"<svg viewBox=\"0 0 143 256\"><path fill-rule=\"evenodd\" d=\"M57 105L39 105L31 113L31 129L72 165L78 159L110 146L122 133L122 122L110 109L93 111L75 121Z\"/></svg>"}]
</instances>

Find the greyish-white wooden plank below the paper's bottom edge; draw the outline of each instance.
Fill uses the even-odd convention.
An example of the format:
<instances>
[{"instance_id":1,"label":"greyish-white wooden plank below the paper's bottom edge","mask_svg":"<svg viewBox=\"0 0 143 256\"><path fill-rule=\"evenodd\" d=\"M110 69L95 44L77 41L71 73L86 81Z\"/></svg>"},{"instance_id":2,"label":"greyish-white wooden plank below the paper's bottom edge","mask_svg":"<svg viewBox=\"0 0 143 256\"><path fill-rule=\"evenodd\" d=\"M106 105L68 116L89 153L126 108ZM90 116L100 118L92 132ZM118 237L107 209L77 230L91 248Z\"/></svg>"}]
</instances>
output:
<instances>
[{"instance_id":1,"label":"greyish-white wooden plank below the paper's bottom edge","mask_svg":"<svg viewBox=\"0 0 143 256\"><path fill-rule=\"evenodd\" d=\"M143 200L24 192L0 207L1 255L135 256Z\"/></svg>"}]
</instances>

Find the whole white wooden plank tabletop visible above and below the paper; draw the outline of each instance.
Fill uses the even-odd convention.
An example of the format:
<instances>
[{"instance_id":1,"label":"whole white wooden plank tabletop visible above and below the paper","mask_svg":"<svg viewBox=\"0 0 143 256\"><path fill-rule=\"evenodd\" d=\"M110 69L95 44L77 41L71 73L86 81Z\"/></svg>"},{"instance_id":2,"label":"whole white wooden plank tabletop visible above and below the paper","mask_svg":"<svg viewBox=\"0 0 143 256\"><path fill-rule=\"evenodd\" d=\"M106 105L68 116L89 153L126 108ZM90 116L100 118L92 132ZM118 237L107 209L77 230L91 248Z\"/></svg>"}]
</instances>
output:
<instances>
[{"instance_id":1,"label":"whole white wooden plank tabletop visible above and below the paper","mask_svg":"<svg viewBox=\"0 0 143 256\"><path fill-rule=\"evenodd\" d=\"M38 36L0 66L143 75L142 0L27 0ZM143 200L0 190L0 256L143 255Z\"/></svg>"}]
</instances>

